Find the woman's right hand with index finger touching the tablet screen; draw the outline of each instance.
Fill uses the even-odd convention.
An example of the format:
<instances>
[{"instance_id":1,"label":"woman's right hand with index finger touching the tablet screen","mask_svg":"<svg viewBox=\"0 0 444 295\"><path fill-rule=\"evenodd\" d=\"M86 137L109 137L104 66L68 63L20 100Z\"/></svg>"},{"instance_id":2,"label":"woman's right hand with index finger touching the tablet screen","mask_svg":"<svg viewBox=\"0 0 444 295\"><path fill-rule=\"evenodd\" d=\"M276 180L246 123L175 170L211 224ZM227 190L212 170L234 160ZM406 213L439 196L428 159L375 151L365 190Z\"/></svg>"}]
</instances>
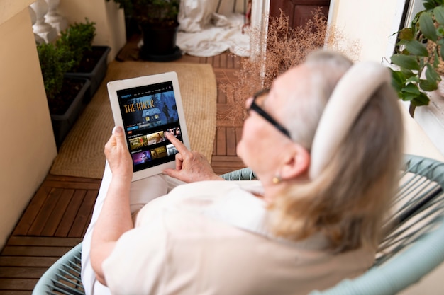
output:
<instances>
[{"instance_id":1,"label":"woman's right hand with index finger touching the tablet screen","mask_svg":"<svg viewBox=\"0 0 444 295\"><path fill-rule=\"evenodd\" d=\"M170 132L165 132L165 137L176 147L176 168L165 169L164 173L186 183L194 183L201 180L223 180L213 172L210 163L198 151L189 151L182 141L179 141Z\"/></svg>"}]
</instances>

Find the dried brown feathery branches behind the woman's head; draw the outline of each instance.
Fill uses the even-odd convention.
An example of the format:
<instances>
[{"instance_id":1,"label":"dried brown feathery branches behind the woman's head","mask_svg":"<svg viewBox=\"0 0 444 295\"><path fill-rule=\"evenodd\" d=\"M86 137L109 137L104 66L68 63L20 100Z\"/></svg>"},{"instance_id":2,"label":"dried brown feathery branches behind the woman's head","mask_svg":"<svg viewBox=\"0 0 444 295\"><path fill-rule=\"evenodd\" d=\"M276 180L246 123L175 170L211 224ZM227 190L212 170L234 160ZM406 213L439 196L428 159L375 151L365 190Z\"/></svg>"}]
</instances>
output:
<instances>
[{"instance_id":1,"label":"dried brown feathery branches behind the woman's head","mask_svg":"<svg viewBox=\"0 0 444 295\"><path fill-rule=\"evenodd\" d=\"M290 28L289 17L282 11L279 17L270 18L265 58L241 59L236 79L221 84L221 91L226 94L229 107L226 112L218 114L220 119L231 119L233 122L245 119L246 98L261 88L269 88L277 76L304 62L309 52L323 47L324 43L332 50L346 51L351 59L357 56L360 49L357 44L347 50L338 47L340 41L343 41L343 35L340 30L327 27L327 18L321 8L316 8L312 15L305 25L296 28ZM253 43L260 40L258 28L251 28L249 33Z\"/></svg>"}]
</instances>

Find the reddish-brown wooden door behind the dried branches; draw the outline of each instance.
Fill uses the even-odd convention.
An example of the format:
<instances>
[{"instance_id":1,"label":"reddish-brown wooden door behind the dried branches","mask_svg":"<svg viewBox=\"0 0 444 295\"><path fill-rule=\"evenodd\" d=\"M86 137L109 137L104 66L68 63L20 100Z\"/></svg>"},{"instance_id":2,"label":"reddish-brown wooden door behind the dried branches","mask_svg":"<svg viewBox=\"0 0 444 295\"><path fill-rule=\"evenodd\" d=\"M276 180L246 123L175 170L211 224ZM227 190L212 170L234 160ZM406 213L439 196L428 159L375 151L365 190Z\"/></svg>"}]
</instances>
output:
<instances>
[{"instance_id":1,"label":"reddish-brown wooden door behind the dried branches","mask_svg":"<svg viewBox=\"0 0 444 295\"><path fill-rule=\"evenodd\" d=\"M282 9L289 16L290 27L295 28L305 25L318 7L327 18L329 6L330 0L270 0L270 16L279 17Z\"/></svg>"}]
</instances>

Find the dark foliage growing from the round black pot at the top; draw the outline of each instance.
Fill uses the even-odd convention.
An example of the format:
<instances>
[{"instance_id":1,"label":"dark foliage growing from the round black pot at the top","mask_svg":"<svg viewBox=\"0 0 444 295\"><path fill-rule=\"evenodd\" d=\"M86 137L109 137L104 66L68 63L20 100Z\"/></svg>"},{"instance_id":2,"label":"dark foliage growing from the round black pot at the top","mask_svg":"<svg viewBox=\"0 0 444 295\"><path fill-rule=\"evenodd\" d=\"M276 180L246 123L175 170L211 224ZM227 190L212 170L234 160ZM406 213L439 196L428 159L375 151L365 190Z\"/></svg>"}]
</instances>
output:
<instances>
[{"instance_id":1,"label":"dark foliage growing from the round black pot at the top","mask_svg":"<svg viewBox=\"0 0 444 295\"><path fill-rule=\"evenodd\" d=\"M170 27L177 24L180 0L106 0L114 1L139 25Z\"/></svg>"}]
</instances>

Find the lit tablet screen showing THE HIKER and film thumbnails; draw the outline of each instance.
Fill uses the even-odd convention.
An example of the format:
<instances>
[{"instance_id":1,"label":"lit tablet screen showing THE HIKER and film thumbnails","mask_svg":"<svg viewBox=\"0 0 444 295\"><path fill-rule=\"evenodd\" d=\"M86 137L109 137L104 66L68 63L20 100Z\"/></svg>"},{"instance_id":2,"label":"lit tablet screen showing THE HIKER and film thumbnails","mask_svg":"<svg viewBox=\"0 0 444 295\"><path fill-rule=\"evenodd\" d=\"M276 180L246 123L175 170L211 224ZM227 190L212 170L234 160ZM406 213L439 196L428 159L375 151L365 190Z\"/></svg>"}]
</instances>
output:
<instances>
[{"instance_id":1,"label":"lit tablet screen showing THE HIKER and film thumbnails","mask_svg":"<svg viewBox=\"0 0 444 295\"><path fill-rule=\"evenodd\" d=\"M172 81L116 91L134 172L174 161L177 149L165 137L182 141Z\"/></svg>"}]
</instances>

